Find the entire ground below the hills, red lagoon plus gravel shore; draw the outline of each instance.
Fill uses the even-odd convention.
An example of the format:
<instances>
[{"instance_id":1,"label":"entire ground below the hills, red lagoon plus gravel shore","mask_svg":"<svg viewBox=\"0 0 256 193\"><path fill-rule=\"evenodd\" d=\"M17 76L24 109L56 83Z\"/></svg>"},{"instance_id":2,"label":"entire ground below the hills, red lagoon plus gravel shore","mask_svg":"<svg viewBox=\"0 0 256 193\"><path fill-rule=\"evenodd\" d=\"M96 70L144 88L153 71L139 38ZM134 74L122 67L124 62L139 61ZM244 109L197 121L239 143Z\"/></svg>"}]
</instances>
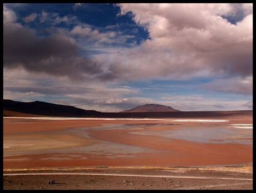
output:
<instances>
[{"instance_id":1,"label":"entire ground below the hills, red lagoon plus gravel shore","mask_svg":"<svg viewBox=\"0 0 256 193\"><path fill-rule=\"evenodd\" d=\"M3 118L3 187L252 189L252 117L200 120Z\"/></svg>"}]
</instances>

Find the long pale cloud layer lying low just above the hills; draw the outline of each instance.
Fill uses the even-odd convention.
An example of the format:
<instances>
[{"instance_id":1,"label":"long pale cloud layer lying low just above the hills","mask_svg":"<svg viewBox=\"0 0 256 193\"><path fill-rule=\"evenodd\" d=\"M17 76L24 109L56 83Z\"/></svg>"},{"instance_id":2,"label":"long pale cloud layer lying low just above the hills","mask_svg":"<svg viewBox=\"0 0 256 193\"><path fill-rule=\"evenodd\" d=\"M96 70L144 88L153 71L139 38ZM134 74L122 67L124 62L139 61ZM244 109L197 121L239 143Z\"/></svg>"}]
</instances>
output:
<instances>
[{"instance_id":1,"label":"long pale cloud layer lying low just above the hills","mask_svg":"<svg viewBox=\"0 0 256 193\"><path fill-rule=\"evenodd\" d=\"M183 111L200 110L244 110L243 106L249 100L235 100L204 95L166 95L159 100L137 97L143 94L140 88L113 88L106 82L68 82L68 78L53 77L44 74L32 74L24 69L4 69L3 98L35 101L42 100L50 103L76 106L82 109L118 112L144 104L163 104ZM161 87L160 87L161 89ZM163 95L160 95L163 96ZM47 97L47 98L45 98ZM163 99L164 98L164 99ZM224 108L223 108L224 107Z\"/></svg>"}]
</instances>

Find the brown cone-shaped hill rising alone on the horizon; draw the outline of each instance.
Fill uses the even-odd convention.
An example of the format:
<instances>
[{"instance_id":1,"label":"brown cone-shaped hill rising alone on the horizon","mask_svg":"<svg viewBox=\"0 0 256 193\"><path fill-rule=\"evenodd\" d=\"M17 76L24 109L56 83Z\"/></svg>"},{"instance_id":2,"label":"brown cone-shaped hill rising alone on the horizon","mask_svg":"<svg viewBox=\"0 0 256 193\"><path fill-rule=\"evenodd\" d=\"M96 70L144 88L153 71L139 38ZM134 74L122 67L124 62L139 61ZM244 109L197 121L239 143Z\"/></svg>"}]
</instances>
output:
<instances>
[{"instance_id":1,"label":"brown cone-shaped hill rising alone on the horizon","mask_svg":"<svg viewBox=\"0 0 256 193\"><path fill-rule=\"evenodd\" d=\"M122 111L121 113L135 113L135 112L175 112L179 111L171 108L170 106L160 104L145 104L136 106L135 108Z\"/></svg>"}]
</instances>

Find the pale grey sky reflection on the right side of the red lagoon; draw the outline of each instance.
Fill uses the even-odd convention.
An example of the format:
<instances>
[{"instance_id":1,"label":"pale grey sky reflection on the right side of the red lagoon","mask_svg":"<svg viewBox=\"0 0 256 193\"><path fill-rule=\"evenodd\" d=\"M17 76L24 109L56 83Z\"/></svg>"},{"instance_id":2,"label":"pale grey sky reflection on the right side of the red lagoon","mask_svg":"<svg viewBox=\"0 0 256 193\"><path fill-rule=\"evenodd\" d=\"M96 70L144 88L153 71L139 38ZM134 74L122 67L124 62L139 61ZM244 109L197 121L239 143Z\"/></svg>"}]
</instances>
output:
<instances>
[{"instance_id":1,"label":"pale grey sky reflection on the right side of the red lagoon","mask_svg":"<svg viewBox=\"0 0 256 193\"><path fill-rule=\"evenodd\" d=\"M96 127L76 128L80 130L80 136L87 137L86 130L115 130L125 129L131 131L131 134L140 135L159 135L165 138L184 139L196 141L199 143L238 143L250 144L253 141L253 125L252 124L230 124L230 125L211 125L211 127L183 127L170 130L147 131L150 126L171 126L175 124L102 124ZM72 129L73 130L73 129ZM81 131L85 131L83 134ZM74 130L73 130L74 131Z\"/></svg>"}]
</instances>

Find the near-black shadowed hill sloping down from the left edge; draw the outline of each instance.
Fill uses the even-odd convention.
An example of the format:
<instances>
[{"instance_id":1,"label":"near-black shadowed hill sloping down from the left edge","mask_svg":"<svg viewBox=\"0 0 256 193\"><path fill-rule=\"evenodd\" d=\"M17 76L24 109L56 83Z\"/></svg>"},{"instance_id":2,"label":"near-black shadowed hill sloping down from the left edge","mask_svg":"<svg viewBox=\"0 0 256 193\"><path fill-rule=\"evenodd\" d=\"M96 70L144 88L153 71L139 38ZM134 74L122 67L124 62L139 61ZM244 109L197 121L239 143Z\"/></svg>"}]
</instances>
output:
<instances>
[{"instance_id":1,"label":"near-black shadowed hill sloping down from the left edge","mask_svg":"<svg viewBox=\"0 0 256 193\"><path fill-rule=\"evenodd\" d=\"M100 111L84 110L76 108L75 106L46 103L42 101L26 103L6 99L3 99L3 110L35 115L68 117L92 117L102 114Z\"/></svg>"}]
</instances>

